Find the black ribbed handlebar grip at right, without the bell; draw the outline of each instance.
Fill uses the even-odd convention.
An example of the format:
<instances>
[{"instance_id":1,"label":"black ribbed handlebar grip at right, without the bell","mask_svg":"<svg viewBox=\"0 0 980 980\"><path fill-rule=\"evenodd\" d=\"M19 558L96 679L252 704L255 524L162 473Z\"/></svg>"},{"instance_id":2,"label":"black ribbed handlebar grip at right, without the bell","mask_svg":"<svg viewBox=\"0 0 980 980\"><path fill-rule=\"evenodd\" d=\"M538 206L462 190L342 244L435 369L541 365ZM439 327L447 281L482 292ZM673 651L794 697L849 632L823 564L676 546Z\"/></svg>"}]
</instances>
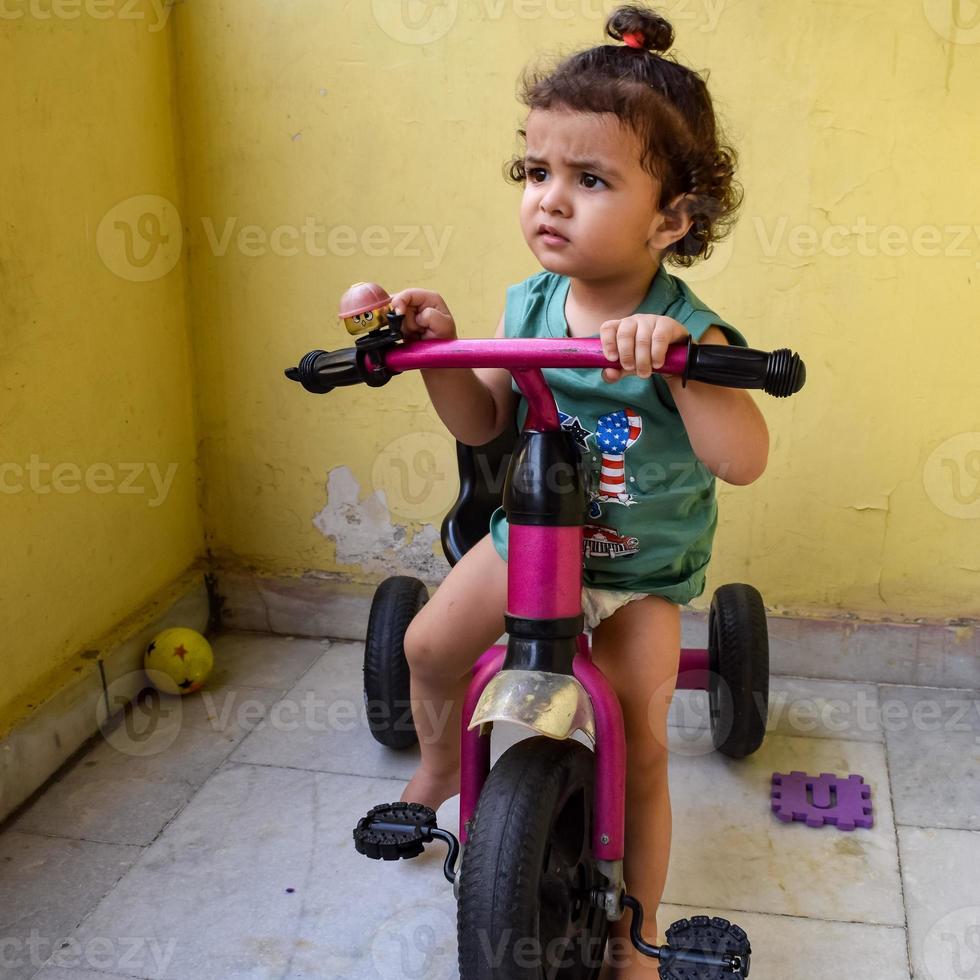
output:
<instances>
[{"instance_id":1,"label":"black ribbed handlebar grip at right, without the bell","mask_svg":"<svg viewBox=\"0 0 980 980\"><path fill-rule=\"evenodd\" d=\"M788 348L761 351L726 344L690 344L684 380L726 388L761 388L776 398L795 395L806 384L806 365Z\"/></svg>"}]
</instances>

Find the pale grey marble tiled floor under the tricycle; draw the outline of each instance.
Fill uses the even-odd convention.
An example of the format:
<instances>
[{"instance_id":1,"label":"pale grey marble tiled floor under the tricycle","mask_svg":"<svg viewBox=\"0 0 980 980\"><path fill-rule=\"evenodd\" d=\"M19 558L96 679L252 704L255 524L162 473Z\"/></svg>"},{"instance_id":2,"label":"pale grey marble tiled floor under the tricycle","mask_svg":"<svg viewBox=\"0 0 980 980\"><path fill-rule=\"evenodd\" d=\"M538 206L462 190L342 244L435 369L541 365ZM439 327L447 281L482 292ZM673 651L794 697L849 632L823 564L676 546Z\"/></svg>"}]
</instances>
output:
<instances>
[{"instance_id":1,"label":"pale grey marble tiled floor under the tricycle","mask_svg":"<svg viewBox=\"0 0 980 980\"><path fill-rule=\"evenodd\" d=\"M443 850L383 864L351 843L418 757L368 734L362 645L214 647L204 691L131 712L0 832L0 978L455 978ZM976 692L774 678L741 763L710 751L705 695L671 710L661 928L733 919L757 980L980 977ZM494 755L516 737L495 730ZM792 769L861 773L874 827L780 823L770 776Z\"/></svg>"}]
</instances>

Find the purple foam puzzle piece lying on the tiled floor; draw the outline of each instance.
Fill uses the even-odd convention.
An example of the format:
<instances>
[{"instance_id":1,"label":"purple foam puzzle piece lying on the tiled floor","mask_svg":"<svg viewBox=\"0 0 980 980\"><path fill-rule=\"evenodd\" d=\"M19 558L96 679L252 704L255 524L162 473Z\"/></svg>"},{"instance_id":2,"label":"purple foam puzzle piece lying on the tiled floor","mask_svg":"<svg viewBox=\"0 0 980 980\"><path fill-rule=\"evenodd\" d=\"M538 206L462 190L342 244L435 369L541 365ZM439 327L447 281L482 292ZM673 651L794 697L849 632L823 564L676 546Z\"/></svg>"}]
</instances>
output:
<instances>
[{"instance_id":1,"label":"purple foam puzzle piece lying on the tiled floor","mask_svg":"<svg viewBox=\"0 0 980 980\"><path fill-rule=\"evenodd\" d=\"M836 795L836 803L834 796ZM838 830L870 828L874 824L871 787L862 776L840 777L832 772L772 774L772 810L784 823L805 821L808 827L834 824Z\"/></svg>"}]
</instances>

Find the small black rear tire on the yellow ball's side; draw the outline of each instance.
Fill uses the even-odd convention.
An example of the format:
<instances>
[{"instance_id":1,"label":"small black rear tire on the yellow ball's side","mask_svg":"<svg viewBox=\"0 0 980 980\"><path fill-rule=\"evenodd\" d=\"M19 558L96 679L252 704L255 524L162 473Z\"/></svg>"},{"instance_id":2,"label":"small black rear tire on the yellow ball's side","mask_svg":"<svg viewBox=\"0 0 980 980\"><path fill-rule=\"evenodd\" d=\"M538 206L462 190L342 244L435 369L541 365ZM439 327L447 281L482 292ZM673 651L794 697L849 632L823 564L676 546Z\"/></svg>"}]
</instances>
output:
<instances>
[{"instance_id":1,"label":"small black rear tire on the yellow ball's side","mask_svg":"<svg viewBox=\"0 0 980 980\"><path fill-rule=\"evenodd\" d=\"M405 633L429 601L424 582L408 575L386 578L374 593L364 643L364 704L371 734L390 749L417 744L412 719Z\"/></svg>"}]
</instances>

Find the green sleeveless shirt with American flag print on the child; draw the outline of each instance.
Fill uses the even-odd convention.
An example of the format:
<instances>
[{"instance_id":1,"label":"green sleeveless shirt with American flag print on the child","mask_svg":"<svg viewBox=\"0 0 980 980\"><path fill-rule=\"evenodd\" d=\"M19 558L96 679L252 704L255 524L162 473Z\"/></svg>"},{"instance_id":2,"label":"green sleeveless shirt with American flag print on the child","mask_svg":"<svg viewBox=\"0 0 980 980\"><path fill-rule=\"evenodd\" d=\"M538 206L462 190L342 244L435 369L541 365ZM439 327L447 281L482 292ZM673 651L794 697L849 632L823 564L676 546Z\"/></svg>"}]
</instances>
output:
<instances>
[{"instance_id":1,"label":"green sleeveless shirt with American flag print on the child","mask_svg":"<svg viewBox=\"0 0 980 980\"><path fill-rule=\"evenodd\" d=\"M565 320L570 286L568 277L547 271L510 286L505 336L570 336ZM634 313L673 317L695 342L715 324L730 344L748 346L663 266ZM583 583L661 595L678 604L696 599L704 591L718 523L715 477L694 455L667 382L654 374L610 383L598 368L545 368L543 374L562 427L575 434L588 477ZM511 385L519 392L513 380ZM526 415L521 397L519 426ZM498 507L490 533L505 560L507 528Z\"/></svg>"}]
</instances>

